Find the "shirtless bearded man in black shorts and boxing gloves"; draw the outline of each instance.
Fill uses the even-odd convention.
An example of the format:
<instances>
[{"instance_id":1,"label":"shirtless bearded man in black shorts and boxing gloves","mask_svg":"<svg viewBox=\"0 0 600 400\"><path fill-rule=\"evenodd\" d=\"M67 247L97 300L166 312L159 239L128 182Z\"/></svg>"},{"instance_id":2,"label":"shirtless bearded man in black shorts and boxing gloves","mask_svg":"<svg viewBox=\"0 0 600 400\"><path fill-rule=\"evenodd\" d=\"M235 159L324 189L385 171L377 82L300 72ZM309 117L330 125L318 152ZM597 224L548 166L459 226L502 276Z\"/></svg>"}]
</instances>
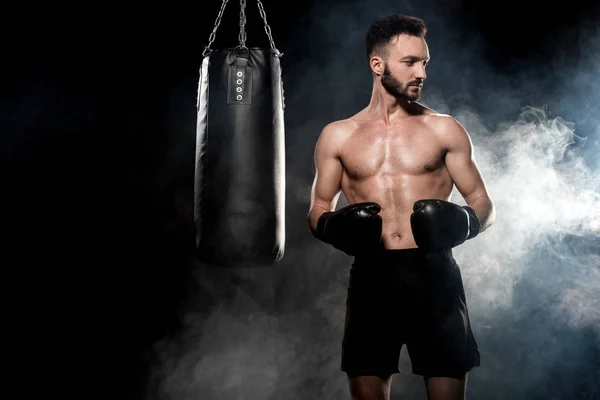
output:
<instances>
[{"instance_id":1,"label":"shirtless bearded man in black shorts and boxing gloves","mask_svg":"<svg viewBox=\"0 0 600 400\"><path fill-rule=\"evenodd\" d=\"M412 16L373 23L370 103L325 126L315 146L310 229L354 256L342 371L357 400L389 399L404 344L430 400L463 399L479 365L452 248L486 230L495 211L468 133L418 103L425 34ZM449 201L454 186L467 206ZM336 210L342 192L349 205Z\"/></svg>"}]
</instances>

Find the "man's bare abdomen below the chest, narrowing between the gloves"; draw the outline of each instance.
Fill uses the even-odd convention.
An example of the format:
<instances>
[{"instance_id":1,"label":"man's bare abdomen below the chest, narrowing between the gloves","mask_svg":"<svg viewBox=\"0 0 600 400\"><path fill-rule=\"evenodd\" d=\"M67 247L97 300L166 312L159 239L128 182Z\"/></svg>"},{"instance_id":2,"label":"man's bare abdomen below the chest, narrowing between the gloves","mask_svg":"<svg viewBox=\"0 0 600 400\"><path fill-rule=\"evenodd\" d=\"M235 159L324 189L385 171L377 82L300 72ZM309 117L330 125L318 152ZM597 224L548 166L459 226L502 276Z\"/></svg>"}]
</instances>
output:
<instances>
[{"instance_id":1,"label":"man's bare abdomen below the chest, narrowing between the gloves","mask_svg":"<svg viewBox=\"0 0 600 400\"><path fill-rule=\"evenodd\" d=\"M349 204L374 201L381 206L386 249L416 248L410 226L413 204L422 199L449 200L452 194L452 181L445 169L418 175L381 174L361 181L344 175L342 192Z\"/></svg>"}]
</instances>

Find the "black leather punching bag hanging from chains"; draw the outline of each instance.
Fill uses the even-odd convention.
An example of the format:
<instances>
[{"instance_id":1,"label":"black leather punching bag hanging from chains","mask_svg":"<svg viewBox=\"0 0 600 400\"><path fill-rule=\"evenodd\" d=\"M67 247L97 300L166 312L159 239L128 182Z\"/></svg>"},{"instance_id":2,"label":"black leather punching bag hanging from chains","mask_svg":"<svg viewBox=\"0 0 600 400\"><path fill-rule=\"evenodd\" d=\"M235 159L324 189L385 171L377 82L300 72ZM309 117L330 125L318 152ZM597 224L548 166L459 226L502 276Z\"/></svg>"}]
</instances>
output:
<instances>
[{"instance_id":1,"label":"black leather punching bag hanging from chains","mask_svg":"<svg viewBox=\"0 0 600 400\"><path fill-rule=\"evenodd\" d=\"M230 48L204 56L196 126L194 219L201 262L260 267L285 247L281 53Z\"/></svg>"}]
</instances>

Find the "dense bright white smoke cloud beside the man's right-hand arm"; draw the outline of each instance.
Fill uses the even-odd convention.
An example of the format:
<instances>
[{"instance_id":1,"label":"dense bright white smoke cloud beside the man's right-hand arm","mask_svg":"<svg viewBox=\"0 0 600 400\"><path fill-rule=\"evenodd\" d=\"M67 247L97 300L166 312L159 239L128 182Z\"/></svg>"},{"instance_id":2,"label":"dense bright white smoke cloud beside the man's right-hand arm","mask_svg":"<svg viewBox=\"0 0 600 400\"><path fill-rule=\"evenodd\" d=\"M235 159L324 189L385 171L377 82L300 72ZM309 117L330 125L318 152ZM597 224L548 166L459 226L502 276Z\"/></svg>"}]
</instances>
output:
<instances>
[{"instance_id":1,"label":"dense bright white smoke cloud beside the man's right-hand arm","mask_svg":"<svg viewBox=\"0 0 600 400\"><path fill-rule=\"evenodd\" d=\"M497 208L488 231L455 249L471 313L480 321L488 315L493 324L489 311L513 308L514 287L531 265L554 258L563 267L539 270L539 282L547 286L540 290L559 288L564 318L590 324L600 334L600 296L594 289L600 287L600 249L572 254L551 245L565 236L600 238L600 175L570 148L574 124L533 107L491 134L481 131L476 114L458 118L472 132L476 161ZM458 193L454 201L464 204ZM542 246L552 254L532 260ZM552 274L560 275L560 285Z\"/></svg>"}]
</instances>

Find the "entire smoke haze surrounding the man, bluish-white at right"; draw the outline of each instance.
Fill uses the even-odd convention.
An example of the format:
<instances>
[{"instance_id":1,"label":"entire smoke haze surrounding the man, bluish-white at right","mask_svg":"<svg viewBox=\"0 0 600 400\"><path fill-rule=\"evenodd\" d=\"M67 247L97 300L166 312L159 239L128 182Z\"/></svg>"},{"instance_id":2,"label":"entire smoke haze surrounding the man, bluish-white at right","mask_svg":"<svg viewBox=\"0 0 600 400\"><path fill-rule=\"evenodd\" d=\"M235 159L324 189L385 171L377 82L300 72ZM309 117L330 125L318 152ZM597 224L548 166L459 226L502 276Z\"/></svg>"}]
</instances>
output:
<instances>
[{"instance_id":1,"label":"entire smoke haze surrounding the man, bluish-white at right","mask_svg":"<svg viewBox=\"0 0 600 400\"><path fill-rule=\"evenodd\" d=\"M368 103L363 35L373 19L394 12L428 24L432 62L422 102L469 131L497 207L495 224L454 251L482 354L469 396L600 398L598 23L590 17L573 28L565 37L577 39L556 42L552 60L525 60L531 64L503 74L486 58L485 38L454 20L452 3L372 3L322 2L279 44L286 90L284 259L259 270L190 261L195 279L184 327L155 344L147 399L348 398L339 362L351 258L308 232L312 155L323 126ZM193 143L195 82L181 87L173 95L173 121L184 134L167 168ZM464 204L459 193L453 201ZM423 398L405 349L400 367L392 398Z\"/></svg>"}]
</instances>

